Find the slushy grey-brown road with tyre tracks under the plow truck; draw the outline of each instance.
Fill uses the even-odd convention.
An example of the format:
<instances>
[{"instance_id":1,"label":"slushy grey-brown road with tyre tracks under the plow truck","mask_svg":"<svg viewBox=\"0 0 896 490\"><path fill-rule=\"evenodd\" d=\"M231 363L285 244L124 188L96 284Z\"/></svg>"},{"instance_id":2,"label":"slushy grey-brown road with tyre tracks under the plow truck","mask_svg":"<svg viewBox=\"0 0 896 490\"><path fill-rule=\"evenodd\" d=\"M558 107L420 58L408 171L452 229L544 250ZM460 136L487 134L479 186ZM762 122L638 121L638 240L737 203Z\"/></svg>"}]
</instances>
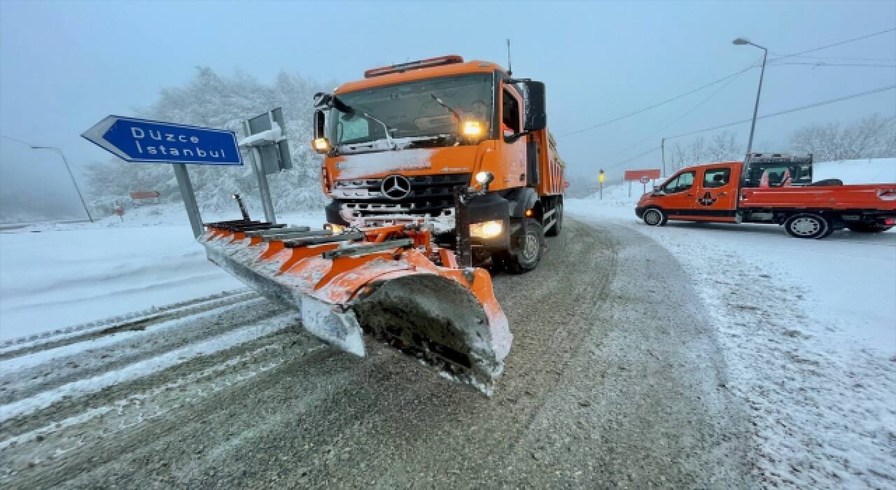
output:
<instances>
[{"instance_id":1,"label":"slushy grey-brown road with tyre tracks under the plow truck","mask_svg":"<svg viewBox=\"0 0 896 490\"><path fill-rule=\"evenodd\" d=\"M0 350L0 486L747 486L686 272L627 228L565 227L495 276L514 343L491 399L224 293Z\"/></svg>"}]
</instances>

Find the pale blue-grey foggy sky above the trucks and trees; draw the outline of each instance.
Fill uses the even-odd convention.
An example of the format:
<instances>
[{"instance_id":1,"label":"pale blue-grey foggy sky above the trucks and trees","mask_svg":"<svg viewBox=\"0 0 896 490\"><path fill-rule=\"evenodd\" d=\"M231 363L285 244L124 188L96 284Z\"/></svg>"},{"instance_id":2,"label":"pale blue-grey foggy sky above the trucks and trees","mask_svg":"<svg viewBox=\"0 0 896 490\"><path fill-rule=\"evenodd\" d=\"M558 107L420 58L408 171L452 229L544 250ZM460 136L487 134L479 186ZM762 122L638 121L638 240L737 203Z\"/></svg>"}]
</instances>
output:
<instances>
[{"instance_id":1,"label":"pale blue-grey foggy sky above the trucks and trees","mask_svg":"<svg viewBox=\"0 0 896 490\"><path fill-rule=\"evenodd\" d=\"M74 165L109 155L79 134L109 114L133 115L197 65L271 81L281 69L321 80L358 79L367 68L458 54L506 64L547 83L548 125L571 173L597 175L686 133L752 115L759 70L744 73L675 125L719 85L612 125L594 125L692 90L757 61L733 46L745 36L771 54L796 53L896 26L896 2L627 3L0 3L0 133L59 146ZM770 56L773 56L770 55ZM811 53L792 62L896 64L896 34ZM838 59L833 59L837 57ZM839 59L844 58L844 59ZM850 59L845 59L850 58ZM851 58L867 58L867 61ZM896 83L896 69L769 67L760 114ZM754 150L786 149L801 125L896 114L890 90L762 120ZM310 115L309 115L310 117ZM745 144L749 125L729 128ZM711 136L712 133L705 133ZM686 143L687 138L678 140ZM673 144L674 142L668 142ZM762 146L767 145L768 148ZM659 152L608 170L658 168ZM53 152L0 139L0 192L39 185L78 202ZM70 195L69 195L70 194Z\"/></svg>"}]
</instances>

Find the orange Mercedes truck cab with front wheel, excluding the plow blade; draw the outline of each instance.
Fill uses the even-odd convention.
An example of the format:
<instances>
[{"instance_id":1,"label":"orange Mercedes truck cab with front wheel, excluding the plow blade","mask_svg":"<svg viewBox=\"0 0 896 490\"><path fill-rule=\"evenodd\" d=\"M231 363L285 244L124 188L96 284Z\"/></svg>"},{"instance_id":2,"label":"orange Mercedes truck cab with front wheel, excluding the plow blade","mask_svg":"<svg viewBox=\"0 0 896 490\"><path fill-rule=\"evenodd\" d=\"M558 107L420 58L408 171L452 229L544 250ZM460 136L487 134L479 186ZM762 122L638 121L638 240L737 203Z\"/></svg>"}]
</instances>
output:
<instances>
[{"instance_id":1,"label":"orange Mercedes truck cab with front wheel, excluding the plow blade","mask_svg":"<svg viewBox=\"0 0 896 490\"><path fill-rule=\"evenodd\" d=\"M324 156L331 226L425 226L446 247L469 233L477 262L534 268L563 211L544 84L461 56L364 75L315 96L312 147ZM458 189L475 190L463 198L463 229Z\"/></svg>"}]
</instances>

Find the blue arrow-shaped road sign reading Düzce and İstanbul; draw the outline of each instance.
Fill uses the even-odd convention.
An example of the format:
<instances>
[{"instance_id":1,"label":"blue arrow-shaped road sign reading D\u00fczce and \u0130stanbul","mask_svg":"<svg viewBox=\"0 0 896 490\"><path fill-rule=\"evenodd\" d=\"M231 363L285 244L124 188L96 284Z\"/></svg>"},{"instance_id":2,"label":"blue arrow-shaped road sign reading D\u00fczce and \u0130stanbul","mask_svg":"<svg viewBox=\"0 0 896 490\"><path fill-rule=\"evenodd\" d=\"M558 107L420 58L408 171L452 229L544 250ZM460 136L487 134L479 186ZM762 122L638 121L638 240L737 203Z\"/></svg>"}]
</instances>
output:
<instances>
[{"instance_id":1,"label":"blue arrow-shaped road sign reading D\u00fczce and \u0130stanbul","mask_svg":"<svg viewBox=\"0 0 896 490\"><path fill-rule=\"evenodd\" d=\"M82 137L130 162L243 165L232 131L108 116Z\"/></svg>"}]
</instances>

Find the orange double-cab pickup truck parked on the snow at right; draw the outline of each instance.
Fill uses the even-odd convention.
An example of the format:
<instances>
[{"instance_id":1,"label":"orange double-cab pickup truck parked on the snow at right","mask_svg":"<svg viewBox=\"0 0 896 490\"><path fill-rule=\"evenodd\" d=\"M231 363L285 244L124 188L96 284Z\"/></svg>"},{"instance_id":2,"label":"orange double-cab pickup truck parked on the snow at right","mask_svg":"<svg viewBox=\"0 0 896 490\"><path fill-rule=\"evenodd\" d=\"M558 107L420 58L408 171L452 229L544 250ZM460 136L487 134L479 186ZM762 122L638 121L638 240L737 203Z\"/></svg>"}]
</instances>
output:
<instances>
[{"instance_id":1,"label":"orange double-cab pickup truck parked on the snow at right","mask_svg":"<svg viewBox=\"0 0 896 490\"><path fill-rule=\"evenodd\" d=\"M754 153L682 168L642 195L635 214L650 226L668 219L783 225L790 236L823 238L834 230L877 233L896 225L896 183L812 183L812 156Z\"/></svg>"}]
</instances>

